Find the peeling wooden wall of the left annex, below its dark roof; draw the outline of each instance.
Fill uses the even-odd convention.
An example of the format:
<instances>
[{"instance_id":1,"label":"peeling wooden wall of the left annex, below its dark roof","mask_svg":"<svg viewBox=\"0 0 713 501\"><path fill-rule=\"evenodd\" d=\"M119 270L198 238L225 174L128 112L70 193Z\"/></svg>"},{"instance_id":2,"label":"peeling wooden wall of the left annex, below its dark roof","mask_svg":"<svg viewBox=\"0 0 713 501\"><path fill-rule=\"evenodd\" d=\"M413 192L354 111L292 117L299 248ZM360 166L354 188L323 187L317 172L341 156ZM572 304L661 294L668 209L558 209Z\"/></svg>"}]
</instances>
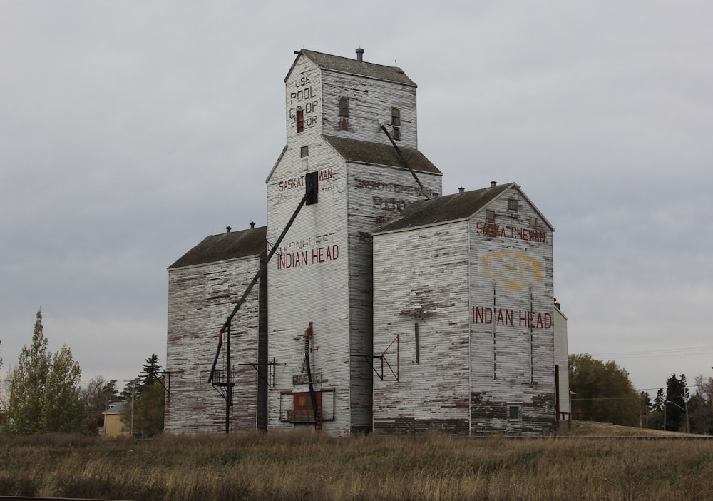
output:
<instances>
[{"instance_id":1,"label":"peeling wooden wall of the left annex, below its dark roof","mask_svg":"<svg viewBox=\"0 0 713 501\"><path fill-rule=\"evenodd\" d=\"M225 431L225 400L208 376L218 332L257 273L259 260L253 256L169 270L166 432ZM232 321L233 431L257 427L257 372L240 364L257 363L259 297L257 285ZM222 356L217 368L223 368Z\"/></svg>"}]
</instances>

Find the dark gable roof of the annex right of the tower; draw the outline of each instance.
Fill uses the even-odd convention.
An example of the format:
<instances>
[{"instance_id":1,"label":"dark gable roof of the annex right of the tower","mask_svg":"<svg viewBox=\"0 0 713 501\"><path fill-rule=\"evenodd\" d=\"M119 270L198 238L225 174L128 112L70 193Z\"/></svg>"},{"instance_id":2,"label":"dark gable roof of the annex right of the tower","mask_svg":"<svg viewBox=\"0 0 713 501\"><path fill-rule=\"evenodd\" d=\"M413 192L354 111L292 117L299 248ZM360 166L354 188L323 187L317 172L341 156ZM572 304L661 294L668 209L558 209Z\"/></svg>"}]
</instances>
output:
<instances>
[{"instance_id":1,"label":"dark gable roof of the annex right of the tower","mask_svg":"<svg viewBox=\"0 0 713 501\"><path fill-rule=\"evenodd\" d=\"M374 234L468 219L481 211L488 203L503 196L504 193L511 189L519 191L520 195L535 209L542 221L547 224L550 230L554 231L545 216L538 211L538 208L520 190L520 186L517 183L508 183L411 203L399 216L391 218L380 228L377 228Z\"/></svg>"}]
</instances>

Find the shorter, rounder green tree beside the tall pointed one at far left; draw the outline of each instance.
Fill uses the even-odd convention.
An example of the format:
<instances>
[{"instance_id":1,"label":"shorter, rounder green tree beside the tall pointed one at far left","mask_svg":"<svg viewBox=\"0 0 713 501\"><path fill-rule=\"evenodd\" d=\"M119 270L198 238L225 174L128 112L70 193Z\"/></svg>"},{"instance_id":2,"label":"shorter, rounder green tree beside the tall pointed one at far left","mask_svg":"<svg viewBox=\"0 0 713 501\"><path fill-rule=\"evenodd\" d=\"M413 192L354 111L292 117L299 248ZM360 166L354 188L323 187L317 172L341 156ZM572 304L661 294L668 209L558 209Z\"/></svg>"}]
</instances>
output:
<instances>
[{"instance_id":1,"label":"shorter, rounder green tree beside the tall pointed one at far left","mask_svg":"<svg viewBox=\"0 0 713 501\"><path fill-rule=\"evenodd\" d=\"M86 408L79 385L82 370L66 346L55 353L42 400L41 429L78 433L85 429Z\"/></svg>"}]
</instances>

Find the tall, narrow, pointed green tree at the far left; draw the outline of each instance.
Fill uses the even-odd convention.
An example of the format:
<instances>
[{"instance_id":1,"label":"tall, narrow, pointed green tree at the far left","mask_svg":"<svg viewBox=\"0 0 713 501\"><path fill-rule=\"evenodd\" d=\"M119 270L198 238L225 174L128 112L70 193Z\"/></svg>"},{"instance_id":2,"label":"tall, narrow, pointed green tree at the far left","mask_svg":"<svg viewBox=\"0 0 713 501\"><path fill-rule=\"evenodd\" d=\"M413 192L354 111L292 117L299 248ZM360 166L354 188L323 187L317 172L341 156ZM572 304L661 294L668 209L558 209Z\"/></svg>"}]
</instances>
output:
<instances>
[{"instance_id":1,"label":"tall, narrow, pointed green tree at the far left","mask_svg":"<svg viewBox=\"0 0 713 501\"><path fill-rule=\"evenodd\" d=\"M32 342L24 345L17 367L10 374L8 429L16 435L43 432L42 408L51 355L42 326L42 310L37 310Z\"/></svg>"}]
</instances>

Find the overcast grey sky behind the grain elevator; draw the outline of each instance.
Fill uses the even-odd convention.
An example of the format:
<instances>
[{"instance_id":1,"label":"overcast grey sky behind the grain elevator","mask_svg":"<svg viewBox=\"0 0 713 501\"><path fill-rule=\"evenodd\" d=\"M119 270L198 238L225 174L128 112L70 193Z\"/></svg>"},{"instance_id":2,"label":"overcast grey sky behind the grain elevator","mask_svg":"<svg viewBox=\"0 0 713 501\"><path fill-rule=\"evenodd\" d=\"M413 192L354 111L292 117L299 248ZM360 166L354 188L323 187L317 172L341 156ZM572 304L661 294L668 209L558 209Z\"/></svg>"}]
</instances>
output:
<instances>
[{"instance_id":1,"label":"overcast grey sky behind the grain elevator","mask_svg":"<svg viewBox=\"0 0 713 501\"><path fill-rule=\"evenodd\" d=\"M712 375L709 1L0 0L0 356L42 308L83 378L165 362L166 268L266 222L305 48L396 62L445 193L516 181L556 228L570 353ZM652 392L655 393L655 390Z\"/></svg>"}]
</instances>

